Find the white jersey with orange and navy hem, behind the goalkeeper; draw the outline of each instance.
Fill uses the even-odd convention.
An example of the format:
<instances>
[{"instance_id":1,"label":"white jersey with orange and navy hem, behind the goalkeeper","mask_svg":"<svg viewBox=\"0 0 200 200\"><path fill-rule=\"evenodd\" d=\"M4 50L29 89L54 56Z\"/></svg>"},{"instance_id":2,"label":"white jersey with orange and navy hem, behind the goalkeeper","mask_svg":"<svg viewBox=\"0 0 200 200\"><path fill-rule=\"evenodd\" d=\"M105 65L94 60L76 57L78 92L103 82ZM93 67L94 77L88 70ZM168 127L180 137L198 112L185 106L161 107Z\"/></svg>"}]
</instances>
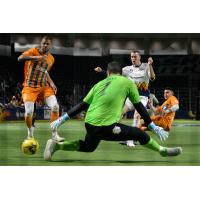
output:
<instances>
[{"instance_id":1,"label":"white jersey with orange and navy hem, behind the goalkeeper","mask_svg":"<svg viewBox=\"0 0 200 200\"><path fill-rule=\"evenodd\" d=\"M135 65L126 66L122 68L122 75L137 85L140 96L149 96L150 70L148 63L141 63L139 67Z\"/></svg>"}]
</instances>

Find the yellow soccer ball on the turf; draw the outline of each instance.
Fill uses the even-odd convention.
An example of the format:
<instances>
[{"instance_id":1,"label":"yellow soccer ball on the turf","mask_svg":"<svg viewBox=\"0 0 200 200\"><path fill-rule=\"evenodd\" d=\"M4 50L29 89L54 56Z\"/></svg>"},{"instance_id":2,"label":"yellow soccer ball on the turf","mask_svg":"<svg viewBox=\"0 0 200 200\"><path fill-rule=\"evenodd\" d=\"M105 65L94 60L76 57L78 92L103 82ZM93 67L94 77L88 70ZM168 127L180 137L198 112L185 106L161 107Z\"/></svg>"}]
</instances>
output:
<instances>
[{"instance_id":1,"label":"yellow soccer ball on the turf","mask_svg":"<svg viewBox=\"0 0 200 200\"><path fill-rule=\"evenodd\" d=\"M39 143L35 139L25 139L21 145L22 152L27 155L35 154L39 149Z\"/></svg>"}]
</instances>

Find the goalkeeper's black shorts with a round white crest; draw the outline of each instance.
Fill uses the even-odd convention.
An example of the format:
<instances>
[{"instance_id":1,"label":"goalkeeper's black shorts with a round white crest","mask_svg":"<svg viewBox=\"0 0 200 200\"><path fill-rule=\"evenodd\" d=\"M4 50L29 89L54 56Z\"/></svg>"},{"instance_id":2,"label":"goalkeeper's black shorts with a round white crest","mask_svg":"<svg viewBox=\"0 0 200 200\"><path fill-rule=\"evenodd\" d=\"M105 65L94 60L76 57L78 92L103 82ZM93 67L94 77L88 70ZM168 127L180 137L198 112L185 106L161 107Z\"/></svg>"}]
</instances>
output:
<instances>
[{"instance_id":1,"label":"goalkeeper's black shorts with a round white crest","mask_svg":"<svg viewBox=\"0 0 200 200\"><path fill-rule=\"evenodd\" d=\"M87 130L85 140L80 141L79 151L92 152L94 151L101 140L106 141L126 141L136 140L140 144L147 144L150 137L137 127L131 127L120 123L115 123L109 126L93 126L85 123Z\"/></svg>"}]
</instances>

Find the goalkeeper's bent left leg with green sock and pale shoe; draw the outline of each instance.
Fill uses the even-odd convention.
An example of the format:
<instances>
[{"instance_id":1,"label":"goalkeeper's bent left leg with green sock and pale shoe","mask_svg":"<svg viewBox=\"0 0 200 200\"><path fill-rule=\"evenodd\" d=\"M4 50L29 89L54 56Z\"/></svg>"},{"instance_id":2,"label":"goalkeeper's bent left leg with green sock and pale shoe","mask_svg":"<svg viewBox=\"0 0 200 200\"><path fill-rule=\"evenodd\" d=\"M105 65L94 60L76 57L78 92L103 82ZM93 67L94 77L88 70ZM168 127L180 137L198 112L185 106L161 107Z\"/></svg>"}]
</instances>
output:
<instances>
[{"instance_id":1,"label":"goalkeeper's bent left leg with green sock and pale shoe","mask_svg":"<svg viewBox=\"0 0 200 200\"><path fill-rule=\"evenodd\" d=\"M63 151L79 151L79 152L93 152L100 140L99 134L101 132L101 127L92 126L89 124L85 124L87 133L85 139L75 140L75 141L63 141L56 142L55 140L48 140L46 144L46 148L44 151L44 159L51 160L53 154L58 150Z\"/></svg>"}]
</instances>

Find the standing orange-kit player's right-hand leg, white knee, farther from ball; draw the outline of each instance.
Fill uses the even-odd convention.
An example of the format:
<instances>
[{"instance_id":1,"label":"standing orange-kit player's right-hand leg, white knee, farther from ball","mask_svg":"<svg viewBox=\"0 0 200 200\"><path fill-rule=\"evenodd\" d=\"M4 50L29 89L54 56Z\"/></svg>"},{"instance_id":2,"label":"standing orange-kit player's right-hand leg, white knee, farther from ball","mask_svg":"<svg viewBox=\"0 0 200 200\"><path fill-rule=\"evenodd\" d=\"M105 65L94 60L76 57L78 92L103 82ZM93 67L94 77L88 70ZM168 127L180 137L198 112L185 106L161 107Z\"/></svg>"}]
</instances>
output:
<instances>
[{"instance_id":1,"label":"standing orange-kit player's right-hand leg, white knee, farther from ball","mask_svg":"<svg viewBox=\"0 0 200 200\"><path fill-rule=\"evenodd\" d=\"M58 117L59 117L59 105L58 105L56 96L51 95L51 96L45 98L45 103L51 109L50 122L58 119ZM64 138L62 138L58 135L57 130L52 131L52 139L56 140L56 141L64 141Z\"/></svg>"}]
</instances>

